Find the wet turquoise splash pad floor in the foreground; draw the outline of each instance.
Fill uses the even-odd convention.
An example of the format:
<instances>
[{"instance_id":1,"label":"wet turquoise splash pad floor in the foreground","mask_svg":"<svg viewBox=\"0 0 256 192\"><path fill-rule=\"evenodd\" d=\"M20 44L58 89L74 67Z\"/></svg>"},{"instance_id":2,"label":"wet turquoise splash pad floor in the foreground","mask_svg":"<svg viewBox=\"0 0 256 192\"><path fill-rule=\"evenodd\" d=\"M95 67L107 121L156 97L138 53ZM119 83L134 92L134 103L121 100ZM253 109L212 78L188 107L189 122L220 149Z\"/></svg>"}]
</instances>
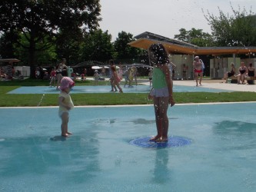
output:
<instances>
[{"instance_id":1,"label":"wet turquoise splash pad floor in the foreground","mask_svg":"<svg viewBox=\"0 0 256 192\"><path fill-rule=\"evenodd\" d=\"M58 108L0 108L1 191L256 191L255 103L175 105L169 137L182 147L138 147L155 135L153 106L74 108L68 138Z\"/></svg>"}]
</instances>

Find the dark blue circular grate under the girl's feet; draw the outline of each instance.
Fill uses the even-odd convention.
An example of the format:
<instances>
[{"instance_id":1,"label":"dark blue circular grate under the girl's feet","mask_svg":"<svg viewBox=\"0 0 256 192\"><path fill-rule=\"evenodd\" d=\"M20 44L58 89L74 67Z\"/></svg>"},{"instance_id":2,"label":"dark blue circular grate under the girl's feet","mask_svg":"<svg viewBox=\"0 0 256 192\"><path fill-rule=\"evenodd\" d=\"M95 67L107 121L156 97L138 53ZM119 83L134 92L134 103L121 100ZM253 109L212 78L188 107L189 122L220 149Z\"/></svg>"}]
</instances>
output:
<instances>
[{"instance_id":1,"label":"dark blue circular grate under the girl's feet","mask_svg":"<svg viewBox=\"0 0 256 192\"><path fill-rule=\"evenodd\" d=\"M151 137L139 137L129 143L138 147L158 148L158 147L180 147L191 144L191 140L184 137L168 137L167 142L149 141Z\"/></svg>"}]
</instances>

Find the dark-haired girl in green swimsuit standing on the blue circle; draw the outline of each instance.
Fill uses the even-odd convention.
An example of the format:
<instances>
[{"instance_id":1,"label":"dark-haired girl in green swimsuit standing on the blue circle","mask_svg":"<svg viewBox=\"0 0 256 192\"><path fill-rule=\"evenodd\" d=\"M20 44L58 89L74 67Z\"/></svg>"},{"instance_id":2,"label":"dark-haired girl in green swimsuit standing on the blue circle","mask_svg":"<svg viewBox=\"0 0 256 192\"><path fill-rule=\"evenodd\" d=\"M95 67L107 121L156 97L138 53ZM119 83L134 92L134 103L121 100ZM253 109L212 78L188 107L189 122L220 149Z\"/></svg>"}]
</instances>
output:
<instances>
[{"instance_id":1,"label":"dark-haired girl in green swimsuit standing on the blue circle","mask_svg":"<svg viewBox=\"0 0 256 192\"><path fill-rule=\"evenodd\" d=\"M150 141L168 141L168 104L175 105L172 95L172 80L168 68L168 55L161 44L153 44L148 49L148 57L153 69L152 89L148 99L153 99L155 108L155 121L158 134Z\"/></svg>"}]
</instances>

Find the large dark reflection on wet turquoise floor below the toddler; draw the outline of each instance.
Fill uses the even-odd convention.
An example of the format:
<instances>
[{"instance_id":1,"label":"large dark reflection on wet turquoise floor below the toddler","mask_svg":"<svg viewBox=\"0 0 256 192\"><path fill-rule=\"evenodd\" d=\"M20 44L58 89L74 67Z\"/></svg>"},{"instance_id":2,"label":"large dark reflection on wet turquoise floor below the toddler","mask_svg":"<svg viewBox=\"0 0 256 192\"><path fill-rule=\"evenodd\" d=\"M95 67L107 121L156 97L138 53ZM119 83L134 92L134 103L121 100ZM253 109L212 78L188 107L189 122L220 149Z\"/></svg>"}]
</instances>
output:
<instances>
[{"instance_id":1,"label":"large dark reflection on wet turquoise floor below the toddler","mask_svg":"<svg viewBox=\"0 0 256 192\"><path fill-rule=\"evenodd\" d=\"M2 152L8 155L1 157L0 172L5 177L20 176L26 180L34 180L35 177L31 176L33 174L42 176L52 172L47 177L58 175L55 184L60 185L58 182L65 180L63 186L89 182L101 172L101 168L98 160L98 140L90 139L95 134L88 134L88 138L75 135L68 138L8 138L2 142L2 148L6 150Z\"/></svg>"}]
</instances>

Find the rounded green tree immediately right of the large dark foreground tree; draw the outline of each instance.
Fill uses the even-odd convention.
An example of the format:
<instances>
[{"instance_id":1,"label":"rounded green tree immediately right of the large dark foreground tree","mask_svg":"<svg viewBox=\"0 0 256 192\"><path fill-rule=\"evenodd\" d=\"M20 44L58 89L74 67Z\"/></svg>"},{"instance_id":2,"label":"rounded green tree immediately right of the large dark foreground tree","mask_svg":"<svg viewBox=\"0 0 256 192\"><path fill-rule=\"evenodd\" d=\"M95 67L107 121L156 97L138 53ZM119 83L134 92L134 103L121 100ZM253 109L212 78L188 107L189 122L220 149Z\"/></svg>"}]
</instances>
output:
<instances>
[{"instance_id":1,"label":"rounded green tree immediately right of the large dark foreground tree","mask_svg":"<svg viewBox=\"0 0 256 192\"><path fill-rule=\"evenodd\" d=\"M81 61L105 62L111 59L114 53L111 35L101 29L92 31L86 36L81 47Z\"/></svg>"}]
</instances>

